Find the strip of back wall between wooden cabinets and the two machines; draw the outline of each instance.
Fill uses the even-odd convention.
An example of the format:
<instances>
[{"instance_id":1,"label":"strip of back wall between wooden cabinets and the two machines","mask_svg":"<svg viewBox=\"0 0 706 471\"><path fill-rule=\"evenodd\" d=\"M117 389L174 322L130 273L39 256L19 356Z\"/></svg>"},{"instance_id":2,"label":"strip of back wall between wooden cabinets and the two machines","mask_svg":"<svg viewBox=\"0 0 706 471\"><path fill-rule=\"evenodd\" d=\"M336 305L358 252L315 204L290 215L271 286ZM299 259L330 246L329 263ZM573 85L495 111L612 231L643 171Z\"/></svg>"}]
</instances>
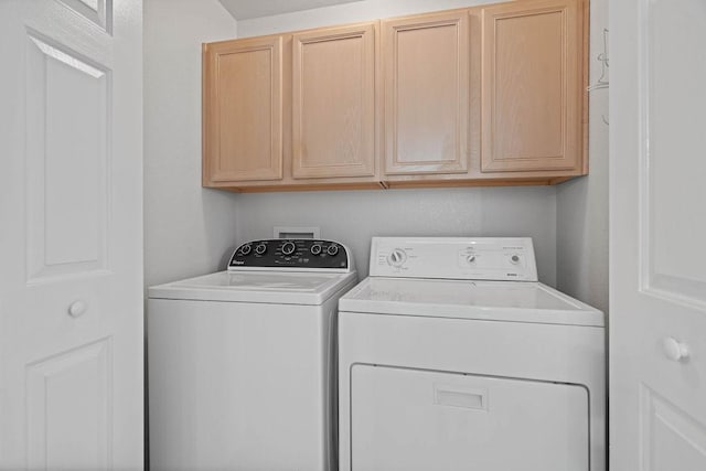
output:
<instances>
[{"instance_id":1,"label":"strip of back wall between wooden cabinets and the two machines","mask_svg":"<svg viewBox=\"0 0 706 471\"><path fill-rule=\"evenodd\" d=\"M556 195L549 186L254 193L238 196L239 240L272 226L319 226L346 244L361 277L372 236L531 236L539 278L556 282Z\"/></svg>"}]
</instances>

